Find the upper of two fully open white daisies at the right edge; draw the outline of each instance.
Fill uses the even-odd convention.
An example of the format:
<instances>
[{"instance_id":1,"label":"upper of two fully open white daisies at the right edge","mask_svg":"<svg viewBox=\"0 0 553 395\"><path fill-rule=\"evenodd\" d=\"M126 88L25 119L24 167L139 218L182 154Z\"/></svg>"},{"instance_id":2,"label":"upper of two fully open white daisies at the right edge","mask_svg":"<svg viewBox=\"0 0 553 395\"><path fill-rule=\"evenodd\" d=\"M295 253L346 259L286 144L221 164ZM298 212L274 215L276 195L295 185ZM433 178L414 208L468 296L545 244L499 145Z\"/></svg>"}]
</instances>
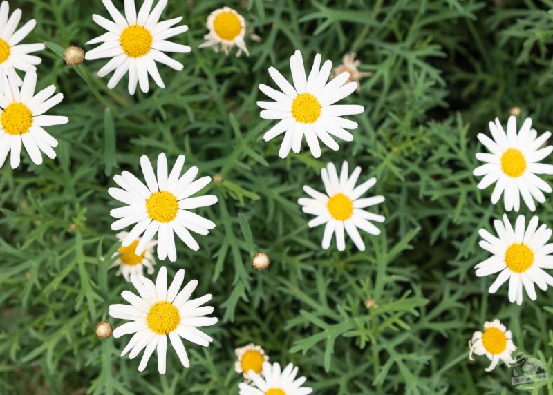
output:
<instances>
[{"instance_id":1,"label":"upper of two fully open white daisies at the right edge","mask_svg":"<svg viewBox=\"0 0 553 395\"><path fill-rule=\"evenodd\" d=\"M505 210L518 211L520 197L531 211L536 209L534 199L545 202L545 193L553 189L536 174L553 174L553 166L539 163L553 151L553 146L542 147L551 136L545 132L540 137L532 129L532 119L526 118L521 130L516 133L516 117L509 117L507 134L499 119L489 122L489 131L494 139L478 134L478 139L491 153L477 153L476 158L487 162L474 170L474 175L483 175L478 188L485 189L496 183L491 193L491 202L496 204L503 193Z\"/></svg>"}]
</instances>

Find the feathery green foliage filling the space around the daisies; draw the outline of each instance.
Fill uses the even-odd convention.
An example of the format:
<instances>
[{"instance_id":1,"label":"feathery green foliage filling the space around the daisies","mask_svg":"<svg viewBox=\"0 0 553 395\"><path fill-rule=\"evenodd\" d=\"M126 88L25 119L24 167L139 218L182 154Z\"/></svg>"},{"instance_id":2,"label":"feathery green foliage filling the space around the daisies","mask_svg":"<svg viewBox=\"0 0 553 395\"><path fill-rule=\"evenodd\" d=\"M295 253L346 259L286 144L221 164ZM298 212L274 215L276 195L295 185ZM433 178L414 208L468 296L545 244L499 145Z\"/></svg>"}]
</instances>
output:
<instances>
[{"instance_id":1,"label":"feathery green foliage filling the space around the daisies","mask_svg":"<svg viewBox=\"0 0 553 395\"><path fill-rule=\"evenodd\" d=\"M95 77L104 61L71 68L59 57L69 44L90 49L84 43L103 32L91 19L107 16L99 0L10 6L37 19L26 43L51 43L38 88L59 87L65 98L53 113L70 123L49 128L55 160L35 166L24 154L15 171L0 169L1 394L238 394L234 349L250 342L299 365L315 394L518 392L505 365L487 374L485 357L467 358L473 331L494 318L553 372L552 292L519 307L506 285L491 296L492 278L474 275L487 257L476 231L491 229L503 207L471 175L483 150L476 134L494 117L506 122L509 108L540 133L552 127L553 1L169 0L162 18L185 17L190 30L176 41L193 50L174 55L182 72L160 66L166 89L151 83L135 97L126 79L110 91ZM221 6L261 36L247 41L250 57L197 48ZM269 66L289 77L296 49L335 66L357 52L374 73L344 101L366 108L351 117L354 142L320 160L306 146L281 160L281 138L262 140L271 123L259 117L257 86L272 85ZM137 359L120 358L129 336L95 335L100 320L121 323L108 306L131 287L107 269L118 245L109 216L117 202L106 190L124 169L140 175L140 155L162 151L170 164L185 154L185 168L223 180L206 189L219 202L200 210L216 222L200 251L178 243L176 263L158 262L170 276L182 267L200 280L195 294L212 293L220 319L207 329L209 348L187 343L189 369L169 349L165 376L156 356L143 373ZM386 196L385 231L363 236L365 252L349 241L342 253L322 251L322 229L308 229L297 204L304 184L322 188L326 162L343 160L376 176L371 192ZM549 226L551 201L536 211ZM252 268L260 250L272 260L266 271ZM553 394L553 385L538 391Z\"/></svg>"}]
</instances>

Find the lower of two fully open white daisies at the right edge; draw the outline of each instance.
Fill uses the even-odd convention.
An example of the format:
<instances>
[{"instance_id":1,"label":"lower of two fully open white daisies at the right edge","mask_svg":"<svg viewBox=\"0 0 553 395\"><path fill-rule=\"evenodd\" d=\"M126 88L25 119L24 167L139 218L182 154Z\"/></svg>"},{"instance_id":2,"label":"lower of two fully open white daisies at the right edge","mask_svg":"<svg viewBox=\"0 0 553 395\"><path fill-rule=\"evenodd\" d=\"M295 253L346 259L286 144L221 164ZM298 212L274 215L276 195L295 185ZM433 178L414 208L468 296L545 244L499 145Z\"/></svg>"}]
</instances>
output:
<instances>
[{"instance_id":1,"label":"lower of two fully open white daisies at the right edge","mask_svg":"<svg viewBox=\"0 0 553 395\"><path fill-rule=\"evenodd\" d=\"M507 215L503 215L503 222L494 221L497 237L485 229L478 231L484 239L480 247L493 255L476 265L476 276L499 273L489 293L495 293L509 280L509 302L521 305L523 289L530 299L536 300L534 283L543 291L547 285L553 285L553 277L543 270L553 269L553 256L550 255L553 244L547 244L552 231L545 224L538 227L538 222L538 217L532 217L525 229L524 215L518 215L513 229Z\"/></svg>"}]
</instances>

